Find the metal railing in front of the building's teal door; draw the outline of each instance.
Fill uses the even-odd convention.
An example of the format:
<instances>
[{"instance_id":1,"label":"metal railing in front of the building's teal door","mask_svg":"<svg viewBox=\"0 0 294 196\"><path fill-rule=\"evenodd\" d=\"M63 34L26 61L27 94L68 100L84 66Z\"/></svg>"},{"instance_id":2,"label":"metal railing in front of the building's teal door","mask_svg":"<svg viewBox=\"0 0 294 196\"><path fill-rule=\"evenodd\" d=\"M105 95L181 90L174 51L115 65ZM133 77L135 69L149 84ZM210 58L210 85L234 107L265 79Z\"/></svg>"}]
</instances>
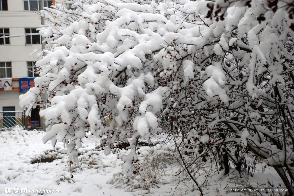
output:
<instances>
[{"instance_id":1,"label":"metal railing in front of the building's teal door","mask_svg":"<svg viewBox=\"0 0 294 196\"><path fill-rule=\"evenodd\" d=\"M12 128L16 125L25 127L25 116L23 111L0 112L0 129Z\"/></svg>"}]
</instances>

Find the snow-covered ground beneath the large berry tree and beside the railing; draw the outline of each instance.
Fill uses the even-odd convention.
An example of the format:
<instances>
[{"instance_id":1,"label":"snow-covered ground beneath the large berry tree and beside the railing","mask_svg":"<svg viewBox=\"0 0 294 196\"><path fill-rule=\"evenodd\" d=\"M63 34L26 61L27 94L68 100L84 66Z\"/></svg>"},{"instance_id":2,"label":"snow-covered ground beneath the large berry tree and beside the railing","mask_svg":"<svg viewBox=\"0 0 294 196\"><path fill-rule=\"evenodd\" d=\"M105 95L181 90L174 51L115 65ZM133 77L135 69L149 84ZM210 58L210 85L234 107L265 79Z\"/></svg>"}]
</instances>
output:
<instances>
[{"instance_id":1,"label":"snow-covered ground beneath the large berry tree and beside the railing","mask_svg":"<svg viewBox=\"0 0 294 196\"><path fill-rule=\"evenodd\" d=\"M118 159L116 154L111 153L106 156L97 147L98 139L91 134L87 134L88 138L83 139L82 147L78 149L79 165L72 166L73 176L71 176L67 163L68 156L62 154L65 150L63 144L57 143L55 147L51 142L43 144L44 134L43 131L27 131L19 127L0 132L0 195L39 195L29 193L29 190L46 189L61 190L61 193L49 192L49 195L200 195L196 188L194 188L196 191L191 192L193 185L188 181L179 183L183 176L175 174L181 168L171 161L172 157L166 157L165 163L160 163L164 167L152 167L150 160L156 159L157 162L153 161L156 164L162 161L159 154L154 154L154 151L157 148L160 148L161 152L167 151L171 147L169 144L165 144L165 147L160 147L159 144L153 148L140 147L141 158L149 160L149 162L145 161L149 163L148 165L141 165L146 171L142 178L147 179L149 174L154 175L152 172L155 172L156 178L152 185L140 181L141 177L136 175L133 175L131 180L123 176L121 166L123 161ZM122 150L121 153L127 151ZM168 156L168 153L165 156ZM38 161L45 158L49 162ZM262 167L263 169L261 164L257 164L253 177L248 178L252 187L257 185L267 187L268 181L273 183L274 187L278 187L279 183L282 184L282 180L272 168L265 169L264 165ZM234 172L229 176L214 175L209 186L203 186L203 193L225 195L226 187L238 186L238 179L233 179L233 174ZM205 176L200 176L197 180L204 179ZM281 187L284 187L283 184ZM5 194L6 188L12 188L12 193ZM28 188L27 193L20 193L21 188ZM14 190L19 192L14 193ZM42 193L42 195L47 194ZM240 195L240 193L229 195Z\"/></svg>"}]
</instances>

